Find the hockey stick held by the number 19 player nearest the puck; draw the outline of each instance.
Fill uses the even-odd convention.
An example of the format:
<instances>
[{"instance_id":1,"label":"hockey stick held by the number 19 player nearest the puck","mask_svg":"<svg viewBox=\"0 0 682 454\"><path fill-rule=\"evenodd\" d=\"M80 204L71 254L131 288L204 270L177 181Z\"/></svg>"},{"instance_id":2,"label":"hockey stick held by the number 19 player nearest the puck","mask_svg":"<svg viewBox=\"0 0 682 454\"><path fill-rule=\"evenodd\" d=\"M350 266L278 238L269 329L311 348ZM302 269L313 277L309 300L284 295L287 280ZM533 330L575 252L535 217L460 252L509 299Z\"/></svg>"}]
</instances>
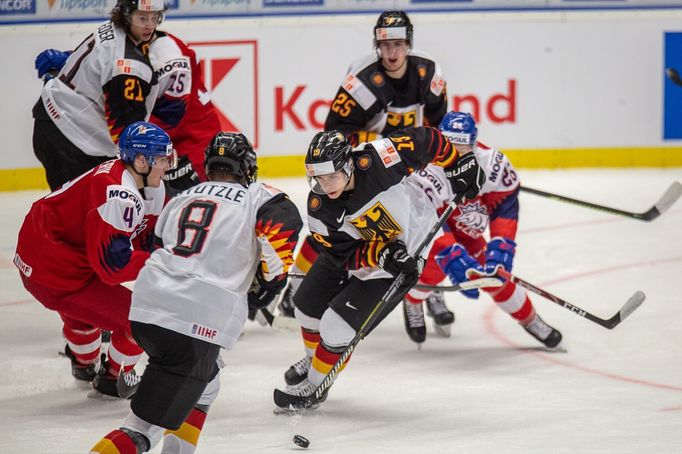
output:
<instances>
[{"instance_id":1,"label":"hockey stick held by the number 19 player nearest the puck","mask_svg":"<svg viewBox=\"0 0 682 454\"><path fill-rule=\"evenodd\" d=\"M420 259L419 256L422 252L422 250L429 245L431 240L433 239L434 236L436 236L436 233L440 230L440 228L443 226L445 221L447 221L448 217L452 214L454 211L455 206L453 204L448 205L448 207L443 211L443 213L440 215L440 218L438 218L438 221L434 224L433 227L431 227L431 230L429 233L426 235L424 240L421 242L421 244L417 247L417 249L414 251L414 254L412 257L415 259ZM372 309L372 312L370 312L369 316L365 319L365 321L362 323L360 328L358 329L357 333L355 333L355 337L351 339L350 343L348 344L348 347L341 353L341 356L339 356L339 359L336 360L332 368L327 372L327 375L325 375L324 379L322 380L322 383L315 389L315 392L313 392L309 396L295 396L292 394L287 394L283 391L280 391L279 389L275 389L273 392L273 398L275 400L275 405L277 405L280 408L288 409L288 410L302 410L306 408L310 408L312 405L318 403L322 396L325 395L327 389L332 385L334 380L336 379L336 376L339 373L339 370L341 369L341 366L346 362L346 360L350 357L350 355L353 353L355 350L355 347L358 345L358 343L365 337L365 335L369 332L369 330L374 326L374 322L379 318L379 316L382 314L384 311L384 308L388 306L389 301L395 296L395 294L398 292L398 289L400 286L403 284L403 281L405 280L405 274L400 273L398 274L391 285L388 287L388 290L386 290L386 293L384 293L384 296L382 296L379 301L376 303L374 308Z\"/></svg>"}]
</instances>

